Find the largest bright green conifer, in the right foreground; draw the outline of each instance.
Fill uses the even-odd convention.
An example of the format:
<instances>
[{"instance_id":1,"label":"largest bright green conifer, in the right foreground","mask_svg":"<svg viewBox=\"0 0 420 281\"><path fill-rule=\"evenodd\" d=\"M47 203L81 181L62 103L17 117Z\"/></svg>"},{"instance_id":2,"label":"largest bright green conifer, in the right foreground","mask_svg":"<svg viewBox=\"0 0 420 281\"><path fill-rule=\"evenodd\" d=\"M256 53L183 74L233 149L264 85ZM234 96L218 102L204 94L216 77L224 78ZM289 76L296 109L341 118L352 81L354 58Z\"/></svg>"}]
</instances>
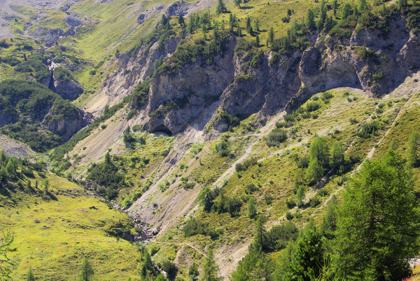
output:
<instances>
[{"instance_id":1,"label":"largest bright green conifer, in the right foreground","mask_svg":"<svg viewBox=\"0 0 420 281\"><path fill-rule=\"evenodd\" d=\"M366 160L344 193L337 219L339 268L356 280L402 280L420 250L420 213L401 156Z\"/></svg>"}]
</instances>

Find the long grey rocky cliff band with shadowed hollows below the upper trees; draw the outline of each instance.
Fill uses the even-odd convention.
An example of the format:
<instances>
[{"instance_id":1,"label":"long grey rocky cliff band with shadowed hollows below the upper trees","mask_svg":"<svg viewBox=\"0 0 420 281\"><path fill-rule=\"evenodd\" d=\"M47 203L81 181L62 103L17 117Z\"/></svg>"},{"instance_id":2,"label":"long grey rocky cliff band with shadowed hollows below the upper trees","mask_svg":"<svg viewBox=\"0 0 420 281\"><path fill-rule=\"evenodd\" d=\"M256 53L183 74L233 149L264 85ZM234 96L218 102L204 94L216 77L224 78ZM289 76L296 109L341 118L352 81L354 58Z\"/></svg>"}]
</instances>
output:
<instances>
[{"instance_id":1,"label":"long grey rocky cliff band with shadowed hollows below the upper trees","mask_svg":"<svg viewBox=\"0 0 420 281\"><path fill-rule=\"evenodd\" d=\"M207 128L223 131L232 120L221 111L239 119L258 113L263 123L268 116L291 111L314 93L332 88L351 86L384 95L415 70L420 55L416 34L406 32L404 19L391 22L390 30L383 34L366 29L353 32L350 38L314 34L307 50L276 54L279 59L275 62L272 52L255 51L253 57L235 54L236 40L232 38L228 50L216 57L214 64L197 60L172 74L154 75L148 102L132 125L176 134L209 104L216 104L218 109L207 120ZM120 69L109 76L100 95L107 103L123 100L151 75L158 59L175 52L180 41L180 37L172 37L162 45L156 42L150 48L142 46L137 53L118 55Z\"/></svg>"}]
</instances>

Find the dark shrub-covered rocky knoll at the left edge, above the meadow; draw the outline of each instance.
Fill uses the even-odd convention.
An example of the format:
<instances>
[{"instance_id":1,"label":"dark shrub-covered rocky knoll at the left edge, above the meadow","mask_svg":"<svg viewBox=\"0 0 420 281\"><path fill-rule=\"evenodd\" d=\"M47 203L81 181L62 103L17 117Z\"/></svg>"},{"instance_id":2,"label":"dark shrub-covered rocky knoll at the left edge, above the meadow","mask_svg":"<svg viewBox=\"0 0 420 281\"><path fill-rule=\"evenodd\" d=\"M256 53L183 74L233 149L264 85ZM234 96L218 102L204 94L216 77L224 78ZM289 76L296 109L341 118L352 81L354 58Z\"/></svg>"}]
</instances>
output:
<instances>
[{"instance_id":1,"label":"dark shrub-covered rocky knoll at the left edge, above the meadow","mask_svg":"<svg viewBox=\"0 0 420 281\"><path fill-rule=\"evenodd\" d=\"M59 120L79 118L78 109L44 85L33 81L5 80L0 82L0 117L6 120L1 132L45 151L62 143L44 127ZM41 124L43 122L43 124Z\"/></svg>"}]
</instances>

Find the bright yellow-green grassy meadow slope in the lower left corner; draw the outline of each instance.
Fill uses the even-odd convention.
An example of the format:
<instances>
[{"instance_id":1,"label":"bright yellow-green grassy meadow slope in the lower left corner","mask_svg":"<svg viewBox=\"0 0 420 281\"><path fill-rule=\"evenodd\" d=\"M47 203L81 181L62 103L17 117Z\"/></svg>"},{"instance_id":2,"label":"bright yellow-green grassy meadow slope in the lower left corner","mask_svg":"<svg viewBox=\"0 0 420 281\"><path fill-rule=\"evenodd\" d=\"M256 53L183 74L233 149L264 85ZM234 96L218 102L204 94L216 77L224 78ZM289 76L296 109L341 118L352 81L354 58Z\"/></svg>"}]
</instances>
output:
<instances>
[{"instance_id":1,"label":"bright yellow-green grassy meadow slope in the lower left corner","mask_svg":"<svg viewBox=\"0 0 420 281\"><path fill-rule=\"evenodd\" d=\"M18 177L22 187L9 182L0 196L0 232L13 233L17 249L9 254L13 280L24 280L29 268L38 280L76 280L84 258L92 263L95 280L137 280L137 247L111 236L119 228L135 233L126 214L50 172Z\"/></svg>"}]
</instances>

